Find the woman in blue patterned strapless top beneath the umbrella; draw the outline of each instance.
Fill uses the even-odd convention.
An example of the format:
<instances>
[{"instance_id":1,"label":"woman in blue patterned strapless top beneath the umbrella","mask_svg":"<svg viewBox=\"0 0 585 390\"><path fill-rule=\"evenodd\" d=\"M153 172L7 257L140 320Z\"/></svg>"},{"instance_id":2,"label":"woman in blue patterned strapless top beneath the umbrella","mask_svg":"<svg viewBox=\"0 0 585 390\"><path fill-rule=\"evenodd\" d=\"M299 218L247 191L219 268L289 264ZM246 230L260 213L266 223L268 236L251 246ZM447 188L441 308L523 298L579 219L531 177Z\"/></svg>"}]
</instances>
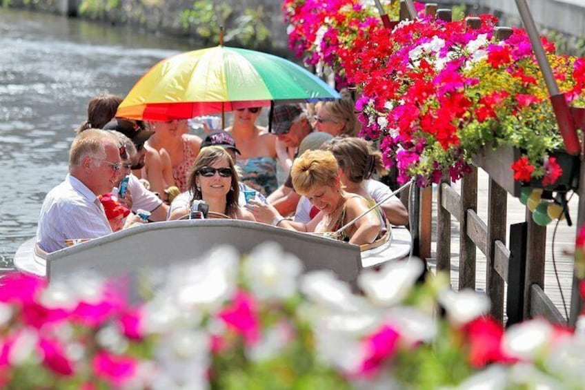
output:
<instances>
[{"instance_id":1,"label":"woman in blue patterned strapless top beneath the umbrella","mask_svg":"<svg viewBox=\"0 0 585 390\"><path fill-rule=\"evenodd\" d=\"M234 138L241 155L237 165L241 182L270 195L278 187L276 136L257 126L261 108L241 108L234 111L233 125L226 128Z\"/></svg>"}]
</instances>

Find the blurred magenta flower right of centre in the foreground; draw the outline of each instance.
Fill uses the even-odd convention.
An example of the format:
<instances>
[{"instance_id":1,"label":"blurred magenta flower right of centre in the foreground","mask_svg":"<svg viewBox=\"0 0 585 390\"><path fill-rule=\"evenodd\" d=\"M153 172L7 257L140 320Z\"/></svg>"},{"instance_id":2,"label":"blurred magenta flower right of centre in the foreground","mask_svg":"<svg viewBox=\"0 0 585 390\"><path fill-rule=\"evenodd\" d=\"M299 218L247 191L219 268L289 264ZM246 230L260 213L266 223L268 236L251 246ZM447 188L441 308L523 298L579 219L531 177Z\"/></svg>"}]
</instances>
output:
<instances>
[{"instance_id":1,"label":"blurred magenta flower right of centre in the foreground","mask_svg":"<svg viewBox=\"0 0 585 390\"><path fill-rule=\"evenodd\" d=\"M361 374L372 375L379 371L384 361L391 358L396 349L399 334L388 325L381 326L364 340L366 359L361 363Z\"/></svg>"}]
</instances>

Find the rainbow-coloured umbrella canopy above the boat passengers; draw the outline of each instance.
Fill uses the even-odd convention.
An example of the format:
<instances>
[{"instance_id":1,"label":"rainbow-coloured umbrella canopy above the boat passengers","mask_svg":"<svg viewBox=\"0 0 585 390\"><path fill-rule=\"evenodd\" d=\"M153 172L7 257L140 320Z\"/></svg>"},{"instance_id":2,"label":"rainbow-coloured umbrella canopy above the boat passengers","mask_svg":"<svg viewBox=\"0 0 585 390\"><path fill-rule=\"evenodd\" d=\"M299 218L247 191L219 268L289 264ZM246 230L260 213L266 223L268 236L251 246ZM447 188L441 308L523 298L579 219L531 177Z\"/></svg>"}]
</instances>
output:
<instances>
[{"instance_id":1,"label":"rainbow-coloured umbrella canopy above the boat passengers","mask_svg":"<svg viewBox=\"0 0 585 390\"><path fill-rule=\"evenodd\" d=\"M319 77L284 58L217 46L160 61L132 87L116 116L168 121L339 97Z\"/></svg>"}]
</instances>

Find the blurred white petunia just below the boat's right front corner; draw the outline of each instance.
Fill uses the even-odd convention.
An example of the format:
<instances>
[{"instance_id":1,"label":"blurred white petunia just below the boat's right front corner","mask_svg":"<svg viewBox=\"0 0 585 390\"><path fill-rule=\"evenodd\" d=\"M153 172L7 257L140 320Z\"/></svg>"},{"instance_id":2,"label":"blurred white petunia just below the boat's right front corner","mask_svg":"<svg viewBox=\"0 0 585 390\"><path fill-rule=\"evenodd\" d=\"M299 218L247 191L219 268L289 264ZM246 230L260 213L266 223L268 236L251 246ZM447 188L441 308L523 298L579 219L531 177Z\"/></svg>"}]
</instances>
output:
<instances>
[{"instance_id":1,"label":"blurred white petunia just below the boat's right front corner","mask_svg":"<svg viewBox=\"0 0 585 390\"><path fill-rule=\"evenodd\" d=\"M358 285L368 299L377 306L393 306L410 293L424 265L419 259L392 262L380 271L364 271Z\"/></svg>"}]
</instances>

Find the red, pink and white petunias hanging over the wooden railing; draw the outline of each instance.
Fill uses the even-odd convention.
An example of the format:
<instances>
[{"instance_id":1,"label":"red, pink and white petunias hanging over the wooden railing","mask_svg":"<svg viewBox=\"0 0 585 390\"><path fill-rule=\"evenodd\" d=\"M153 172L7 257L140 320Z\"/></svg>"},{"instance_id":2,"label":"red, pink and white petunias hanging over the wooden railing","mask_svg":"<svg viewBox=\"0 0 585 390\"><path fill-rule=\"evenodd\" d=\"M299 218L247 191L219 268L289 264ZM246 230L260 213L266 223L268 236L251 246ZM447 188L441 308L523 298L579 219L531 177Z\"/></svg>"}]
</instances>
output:
<instances>
[{"instance_id":1,"label":"red, pink and white petunias hanging over the wooden railing","mask_svg":"<svg viewBox=\"0 0 585 390\"><path fill-rule=\"evenodd\" d=\"M299 10L305 3L295 1ZM290 19L290 31L307 12ZM330 62L357 86L362 135L381 139L384 161L397 167L399 182L415 178L427 186L443 175L455 181L481 148L515 146L522 152L510 167L515 179L553 186L562 168L551 152L563 143L528 36L515 29L497 41L497 19L479 18L476 29L422 15L393 30L362 28L350 35L351 45L331 46L338 59ZM312 42L306 35L299 40ZM551 43L542 43L568 103L585 106L585 59L555 55Z\"/></svg>"}]
</instances>

